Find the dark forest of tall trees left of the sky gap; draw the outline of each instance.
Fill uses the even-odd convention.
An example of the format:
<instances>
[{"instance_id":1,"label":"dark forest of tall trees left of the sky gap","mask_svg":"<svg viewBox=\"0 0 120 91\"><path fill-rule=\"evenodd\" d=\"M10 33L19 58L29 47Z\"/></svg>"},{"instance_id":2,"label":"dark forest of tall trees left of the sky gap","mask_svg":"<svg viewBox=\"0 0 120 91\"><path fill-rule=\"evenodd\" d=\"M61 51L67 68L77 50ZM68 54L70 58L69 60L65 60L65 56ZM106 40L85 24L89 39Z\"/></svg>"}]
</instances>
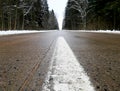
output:
<instances>
[{"instance_id":1,"label":"dark forest of tall trees left of the sky gap","mask_svg":"<svg viewBox=\"0 0 120 91\"><path fill-rule=\"evenodd\" d=\"M0 0L0 30L51 29L49 23L57 23L55 19L49 22L51 17L56 18L51 16L47 0Z\"/></svg>"}]
</instances>

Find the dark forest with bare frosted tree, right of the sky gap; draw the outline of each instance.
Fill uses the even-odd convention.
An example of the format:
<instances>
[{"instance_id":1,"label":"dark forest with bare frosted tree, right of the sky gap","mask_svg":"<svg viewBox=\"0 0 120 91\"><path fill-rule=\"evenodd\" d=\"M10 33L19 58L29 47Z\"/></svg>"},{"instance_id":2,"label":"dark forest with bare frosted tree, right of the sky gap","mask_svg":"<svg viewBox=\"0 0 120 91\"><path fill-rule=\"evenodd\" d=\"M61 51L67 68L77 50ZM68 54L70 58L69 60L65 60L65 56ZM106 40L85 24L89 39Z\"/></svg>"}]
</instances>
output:
<instances>
[{"instance_id":1,"label":"dark forest with bare frosted tree, right of the sky gap","mask_svg":"<svg viewBox=\"0 0 120 91\"><path fill-rule=\"evenodd\" d=\"M63 28L120 29L120 0L69 0Z\"/></svg>"}]
</instances>

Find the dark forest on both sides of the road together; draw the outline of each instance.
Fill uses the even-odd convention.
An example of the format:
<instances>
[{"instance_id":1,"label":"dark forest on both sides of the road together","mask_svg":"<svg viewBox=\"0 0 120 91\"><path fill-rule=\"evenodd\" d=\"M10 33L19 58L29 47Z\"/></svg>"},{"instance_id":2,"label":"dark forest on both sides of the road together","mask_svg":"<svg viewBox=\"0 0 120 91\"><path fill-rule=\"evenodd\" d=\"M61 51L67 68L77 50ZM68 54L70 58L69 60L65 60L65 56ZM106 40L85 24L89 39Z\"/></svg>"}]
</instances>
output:
<instances>
[{"instance_id":1,"label":"dark forest on both sides of the road together","mask_svg":"<svg viewBox=\"0 0 120 91\"><path fill-rule=\"evenodd\" d=\"M47 0L0 0L0 30L43 29L58 29ZM120 0L68 0L63 29L120 30Z\"/></svg>"}]
</instances>

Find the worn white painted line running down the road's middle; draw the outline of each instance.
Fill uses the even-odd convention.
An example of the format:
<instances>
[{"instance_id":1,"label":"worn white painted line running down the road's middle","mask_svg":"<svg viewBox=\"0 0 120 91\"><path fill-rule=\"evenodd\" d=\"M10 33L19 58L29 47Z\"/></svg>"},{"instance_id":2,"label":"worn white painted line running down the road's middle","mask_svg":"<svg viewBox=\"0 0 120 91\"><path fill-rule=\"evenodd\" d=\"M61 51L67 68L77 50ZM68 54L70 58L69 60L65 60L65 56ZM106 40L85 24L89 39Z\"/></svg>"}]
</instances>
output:
<instances>
[{"instance_id":1,"label":"worn white painted line running down the road's middle","mask_svg":"<svg viewBox=\"0 0 120 91\"><path fill-rule=\"evenodd\" d=\"M95 91L63 37L59 37L42 91Z\"/></svg>"}]
</instances>

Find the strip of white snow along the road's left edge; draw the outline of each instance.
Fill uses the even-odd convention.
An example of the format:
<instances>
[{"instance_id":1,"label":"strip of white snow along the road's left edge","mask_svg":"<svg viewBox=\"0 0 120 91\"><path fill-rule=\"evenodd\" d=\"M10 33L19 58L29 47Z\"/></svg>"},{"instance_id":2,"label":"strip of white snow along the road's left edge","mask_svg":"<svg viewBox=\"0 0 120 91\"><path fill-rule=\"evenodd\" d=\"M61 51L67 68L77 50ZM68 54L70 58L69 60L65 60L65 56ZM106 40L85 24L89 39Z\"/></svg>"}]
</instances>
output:
<instances>
[{"instance_id":1,"label":"strip of white snow along the road's left edge","mask_svg":"<svg viewBox=\"0 0 120 91\"><path fill-rule=\"evenodd\" d=\"M36 31L36 30L11 30L11 31L0 31L0 36L3 35L13 35L13 34L25 34L25 33L39 33L39 32L52 32L56 30L42 30L42 31Z\"/></svg>"}]
</instances>

